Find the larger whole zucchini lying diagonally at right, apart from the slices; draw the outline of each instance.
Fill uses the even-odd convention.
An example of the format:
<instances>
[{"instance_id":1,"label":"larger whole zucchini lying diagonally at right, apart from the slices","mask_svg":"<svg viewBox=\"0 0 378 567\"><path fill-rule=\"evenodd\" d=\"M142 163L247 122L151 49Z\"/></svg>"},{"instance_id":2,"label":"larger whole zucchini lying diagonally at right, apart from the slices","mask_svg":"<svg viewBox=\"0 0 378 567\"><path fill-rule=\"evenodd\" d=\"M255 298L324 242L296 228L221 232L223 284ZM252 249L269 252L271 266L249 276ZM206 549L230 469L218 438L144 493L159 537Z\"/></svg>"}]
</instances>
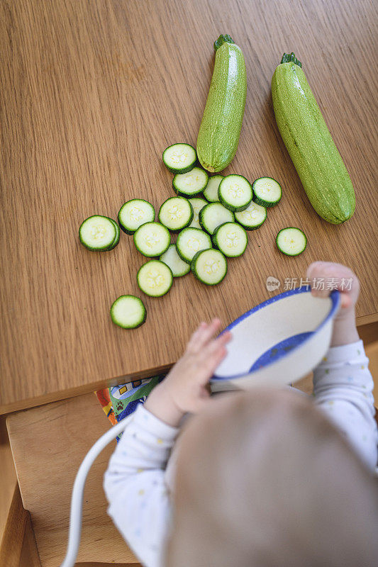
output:
<instances>
[{"instance_id":1,"label":"larger whole zucchini lying diagonally at right, apart from the slices","mask_svg":"<svg viewBox=\"0 0 378 567\"><path fill-rule=\"evenodd\" d=\"M345 223L355 211L355 191L301 63L284 53L272 78L279 132L316 213L328 223Z\"/></svg>"}]
</instances>

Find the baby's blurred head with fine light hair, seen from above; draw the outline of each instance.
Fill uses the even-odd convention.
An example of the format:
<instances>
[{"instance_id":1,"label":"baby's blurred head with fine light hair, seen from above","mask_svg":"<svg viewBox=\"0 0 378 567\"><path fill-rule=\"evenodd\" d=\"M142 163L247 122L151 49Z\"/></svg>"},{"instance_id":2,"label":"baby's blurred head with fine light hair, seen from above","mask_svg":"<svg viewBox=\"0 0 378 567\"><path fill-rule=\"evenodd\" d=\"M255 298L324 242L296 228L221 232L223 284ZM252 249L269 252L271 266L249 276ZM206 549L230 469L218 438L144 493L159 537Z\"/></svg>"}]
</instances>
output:
<instances>
[{"instance_id":1,"label":"baby's blurred head with fine light hair, seen from above","mask_svg":"<svg viewBox=\"0 0 378 567\"><path fill-rule=\"evenodd\" d=\"M180 439L167 567L373 566L376 481L289 391L218 396Z\"/></svg>"}]
</instances>

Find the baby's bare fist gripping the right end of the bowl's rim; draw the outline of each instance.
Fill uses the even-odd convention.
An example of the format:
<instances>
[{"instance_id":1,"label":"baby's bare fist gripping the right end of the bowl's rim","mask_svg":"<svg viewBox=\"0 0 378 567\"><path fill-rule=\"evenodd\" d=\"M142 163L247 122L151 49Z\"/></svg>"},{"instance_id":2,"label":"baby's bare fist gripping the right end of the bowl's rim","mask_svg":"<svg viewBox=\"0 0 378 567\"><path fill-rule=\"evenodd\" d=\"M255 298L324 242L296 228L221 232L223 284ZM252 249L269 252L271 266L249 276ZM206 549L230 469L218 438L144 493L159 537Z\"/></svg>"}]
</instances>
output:
<instances>
[{"instance_id":1,"label":"baby's bare fist gripping the right end of the bowl's rim","mask_svg":"<svg viewBox=\"0 0 378 567\"><path fill-rule=\"evenodd\" d=\"M316 289L313 283L323 279L333 279L340 291L340 309L335 316L333 324L333 337L331 346L340 346L358 340L355 327L355 304L360 294L360 281L354 272L343 264L333 262L313 262L307 269L307 278L311 281L311 293L318 297L330 295L330 289ZM315 279L315 282L314 282Z\"/></svg>"}]
</instances>

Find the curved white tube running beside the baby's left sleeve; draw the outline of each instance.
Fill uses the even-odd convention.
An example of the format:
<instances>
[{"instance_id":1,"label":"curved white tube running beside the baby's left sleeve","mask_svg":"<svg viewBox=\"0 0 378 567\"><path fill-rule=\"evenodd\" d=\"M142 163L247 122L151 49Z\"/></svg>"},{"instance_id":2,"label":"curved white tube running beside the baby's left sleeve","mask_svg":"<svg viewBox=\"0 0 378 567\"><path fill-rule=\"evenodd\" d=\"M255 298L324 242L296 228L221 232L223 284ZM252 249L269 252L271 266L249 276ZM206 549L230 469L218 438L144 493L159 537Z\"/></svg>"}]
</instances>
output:
<instances>
[{"instance_id":1,"label":"curved white tube running beside the baby's left sleeve","mask_svg":"<svg viewBox=\"0 0 378 567\"><path fill-rule=\"evenodd\" d=\"M87 481L87 476L89 469L96 460L97 456L105 449L113 439L117 437L125 429L128 422L133 417L129 415L125 417L117 425L113 425L111 430L107 431L102 435L96 443L89 449L87 455L84 457L82 464L79 466L79 471L77 471L76 478L74 480L74 488L72 488L71 497L71 512L70 512L70 532L68 535L68 545L67 552L65 556L65 561L60 565L60 567L74 567L77 551L79 551L80 537L82 534L82 508L83 508L83 496L84 496L84 486L85 481Z\"/></svg>"}]
</instances>

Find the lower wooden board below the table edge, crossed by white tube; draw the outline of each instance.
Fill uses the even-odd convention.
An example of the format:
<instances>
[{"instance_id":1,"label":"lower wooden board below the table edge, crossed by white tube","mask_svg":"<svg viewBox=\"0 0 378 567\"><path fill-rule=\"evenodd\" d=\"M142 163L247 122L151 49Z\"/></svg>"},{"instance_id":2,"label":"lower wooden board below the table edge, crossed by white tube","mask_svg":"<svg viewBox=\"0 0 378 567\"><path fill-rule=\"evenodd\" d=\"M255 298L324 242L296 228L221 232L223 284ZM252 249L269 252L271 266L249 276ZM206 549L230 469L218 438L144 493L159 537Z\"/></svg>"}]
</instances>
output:
<instances>
[{"instance_id":1,"label":"lower wooden board below the table edge, crossed by white tube","mask_svg":"<svg viewBox=\"0 0 378 567\"><path fill-rule=\"evenodd\" d=\"M110 422L90 393L14 413L7 418L7 426L40 561L43 567L57 567L66 552L74 477L84 455ZM115 446L114 441L102 451L87 478L78 563L139 565L106 514L102 478Z\"/></svg>"}]
</instances>

